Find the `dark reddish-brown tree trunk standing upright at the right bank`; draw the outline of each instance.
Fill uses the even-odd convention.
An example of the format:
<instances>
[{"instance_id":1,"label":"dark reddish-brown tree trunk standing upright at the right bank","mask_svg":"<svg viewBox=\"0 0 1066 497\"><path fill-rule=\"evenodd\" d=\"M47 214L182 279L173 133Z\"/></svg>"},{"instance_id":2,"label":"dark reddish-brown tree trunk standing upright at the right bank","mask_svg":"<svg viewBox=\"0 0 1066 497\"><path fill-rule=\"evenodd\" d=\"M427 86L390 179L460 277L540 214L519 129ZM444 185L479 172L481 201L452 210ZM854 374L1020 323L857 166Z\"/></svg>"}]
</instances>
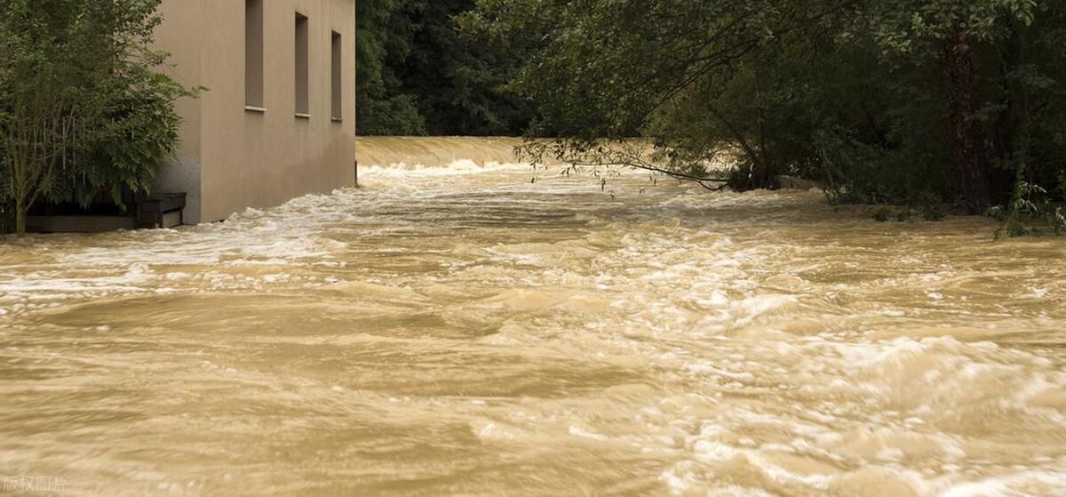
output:
<instances>
[{"instance_id":1,"label":"dark reddish-brown tree trunk standing upright at the right bank","mask_svg":"<svg viewBox=\"0 0 1066 497\"><path fill-rule=\"evenodd\" d=\"M981 127L973 121L978 109L973 51L963 27L955 25L943 43L948 77L948 110L952 162L958 170L963 198L970 213L980 213L991 203L988 157Z\"/></svg>"}]
</instances>

